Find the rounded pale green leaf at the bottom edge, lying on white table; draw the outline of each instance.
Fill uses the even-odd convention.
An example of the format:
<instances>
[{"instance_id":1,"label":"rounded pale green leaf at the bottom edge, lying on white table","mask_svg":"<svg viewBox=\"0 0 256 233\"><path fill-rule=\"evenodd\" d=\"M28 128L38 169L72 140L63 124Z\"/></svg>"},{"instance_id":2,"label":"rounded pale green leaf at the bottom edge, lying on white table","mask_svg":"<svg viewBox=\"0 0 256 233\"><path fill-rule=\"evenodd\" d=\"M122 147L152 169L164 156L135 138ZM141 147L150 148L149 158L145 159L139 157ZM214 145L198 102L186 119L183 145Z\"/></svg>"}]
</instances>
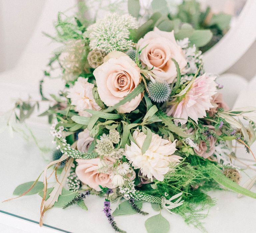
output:
<instances>
[{"instance_id":1,"label":"rounded pale green leaf at the bottom edge, lying on white table","mask_svg":"<svg viewBox=\"0 0 256 233\"><path fill-rule=\"evenodd\" d=\"M148 233L168 233L170 223L160 213L148 218L145 222L145 227Z\"/></svg>"}]
</instances>

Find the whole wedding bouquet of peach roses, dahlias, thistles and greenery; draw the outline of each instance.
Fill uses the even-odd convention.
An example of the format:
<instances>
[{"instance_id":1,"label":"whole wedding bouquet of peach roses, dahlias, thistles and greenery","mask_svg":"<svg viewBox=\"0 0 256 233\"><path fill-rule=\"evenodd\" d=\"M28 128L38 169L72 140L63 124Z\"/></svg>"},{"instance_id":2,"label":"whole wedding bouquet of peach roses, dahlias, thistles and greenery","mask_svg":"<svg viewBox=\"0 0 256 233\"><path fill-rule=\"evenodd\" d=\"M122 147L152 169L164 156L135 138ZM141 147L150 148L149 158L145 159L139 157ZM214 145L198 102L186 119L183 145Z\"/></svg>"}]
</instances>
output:
<instances>
[{"instance_id":1,"label":"whole wedding bouquet of peach roses, dahlias, thistles and greenery","mask_svg":"<svg viewBox=\"0 0 256 233\"><path fill-rule=\"evenodd\" d=\"M131 14L136 10L130 7ZM216 76L205 73L195 44L207 43L202 43L207 30L171 20L157 27L159 12L140 26L131 14L112 13L90 25L59 14L54 40L63 46L49 66L58 65L65 88L51 95L55 104L41 114L52 122L56 151L43 182L39 176L14 191L42 196L41 225L50 208L76 204L87 210L87 196L99 195L117 232L124 231L114 216L146 215L143 202L204 229L201 211L215 204L208 190L224 186L256 198L239 185L232 146L236 141L252 153L256 119L247 113L255 109L230 110ZM47 101L42 82L40 93ZM17 120L30 116L36 104L18 103ZM56 177L52 187L47 184L50 167ZM120 204L112 212L114 201ZM168 232L169 222L160 211L145 227Z\"/></svg>"}]
</instances>

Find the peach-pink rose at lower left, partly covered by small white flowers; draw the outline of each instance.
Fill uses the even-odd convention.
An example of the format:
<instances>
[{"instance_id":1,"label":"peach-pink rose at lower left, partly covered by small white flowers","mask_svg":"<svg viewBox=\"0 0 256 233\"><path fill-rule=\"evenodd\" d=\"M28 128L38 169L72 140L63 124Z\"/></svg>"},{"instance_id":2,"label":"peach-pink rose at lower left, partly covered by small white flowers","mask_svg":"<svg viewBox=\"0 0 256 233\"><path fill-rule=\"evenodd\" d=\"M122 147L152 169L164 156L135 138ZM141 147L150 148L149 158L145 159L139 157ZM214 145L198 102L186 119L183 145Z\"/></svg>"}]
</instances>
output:
<instances>
[{"instance_id":1,"label":"peach-pink rose at lower left, partly covered by small white flowers","mask_svg":"<svg viewBox=\"0 0 256 233\"><path fill-rule=\"evenodd\" d=\"M107 164L113 163L110 157L105 157L105 162ZM76 167L76 175L84 184L87 184L96 191L100 191L102 187L114 188L112 185L112 180L109 174L99 173L98 164L100 158L93 159L76 159L78 166Z\"/></svg>"}]
</instances>

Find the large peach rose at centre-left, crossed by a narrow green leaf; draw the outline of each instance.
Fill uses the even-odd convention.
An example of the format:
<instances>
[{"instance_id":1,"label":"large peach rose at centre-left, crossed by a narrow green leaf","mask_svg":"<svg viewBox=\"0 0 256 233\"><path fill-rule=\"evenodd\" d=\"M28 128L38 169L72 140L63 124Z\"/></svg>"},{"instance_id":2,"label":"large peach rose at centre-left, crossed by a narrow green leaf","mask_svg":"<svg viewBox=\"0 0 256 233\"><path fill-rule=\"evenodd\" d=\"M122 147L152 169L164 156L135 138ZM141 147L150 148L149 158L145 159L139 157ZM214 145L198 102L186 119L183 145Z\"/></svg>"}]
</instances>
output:
<instances>
[{"instance_id":1,"label":"large peach rose at centre-left, crossed by a narrow green leaf","mask_svg":"<svg viewBox=\"0 0 256 233\"><path fill-rule=\"evenodd\" d=\"M111 52L104 63L93 72L100 99L107 106L114 106L136 88L140 81L140 69L125 53ZM130 113L141 101L139 94L130 102L120 106L120 113Z\"/></svg>"}]
</instances>

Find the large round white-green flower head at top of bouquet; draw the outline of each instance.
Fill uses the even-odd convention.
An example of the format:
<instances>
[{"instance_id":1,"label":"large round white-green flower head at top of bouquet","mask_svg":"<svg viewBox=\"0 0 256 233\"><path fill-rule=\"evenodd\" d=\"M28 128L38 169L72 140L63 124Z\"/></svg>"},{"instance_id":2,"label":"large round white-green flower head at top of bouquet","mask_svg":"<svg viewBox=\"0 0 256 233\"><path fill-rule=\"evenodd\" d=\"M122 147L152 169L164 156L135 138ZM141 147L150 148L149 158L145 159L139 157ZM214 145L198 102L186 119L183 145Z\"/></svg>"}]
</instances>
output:
<instances>
[{"instance_id":1,"label":"large round white-green flower head at top of bouquet","mask_svg":"<svg viewBox=\"0 0 256 233\"><path fill-rule=\"evenodd\" d=\"M136 18L129 14L107 15L104 19L89 26L85 37L90 40L90 49L98 49L102 52L123 51L132 47L129 40L129 29L137 28Z\"/></svg>"}]
</instances>

